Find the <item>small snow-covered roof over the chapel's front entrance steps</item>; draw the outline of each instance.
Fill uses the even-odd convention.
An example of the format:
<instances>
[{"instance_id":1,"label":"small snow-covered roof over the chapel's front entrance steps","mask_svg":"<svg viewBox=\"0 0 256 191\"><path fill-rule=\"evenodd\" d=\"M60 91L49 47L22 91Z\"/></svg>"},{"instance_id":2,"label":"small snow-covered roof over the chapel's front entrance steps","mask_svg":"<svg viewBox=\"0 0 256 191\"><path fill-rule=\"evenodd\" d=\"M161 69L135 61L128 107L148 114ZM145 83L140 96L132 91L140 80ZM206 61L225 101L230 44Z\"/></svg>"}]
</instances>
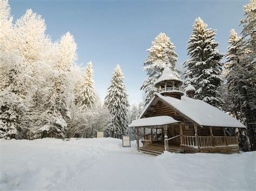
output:
<instances>
[{"instance_id":1,"label":"small snow-covered roof over the chapel's front entrance steps","mask_svg":"<svg viewBox=\"0 0 256 191\"><path fill-rule=\"evenodd\" d=\"M157 116L157 117L147 117L133 120L129 126L129 128L136 126L159 126L159 125L167 125L172 123L179 123L170 116Z\"/></svg>"}]
</instances>

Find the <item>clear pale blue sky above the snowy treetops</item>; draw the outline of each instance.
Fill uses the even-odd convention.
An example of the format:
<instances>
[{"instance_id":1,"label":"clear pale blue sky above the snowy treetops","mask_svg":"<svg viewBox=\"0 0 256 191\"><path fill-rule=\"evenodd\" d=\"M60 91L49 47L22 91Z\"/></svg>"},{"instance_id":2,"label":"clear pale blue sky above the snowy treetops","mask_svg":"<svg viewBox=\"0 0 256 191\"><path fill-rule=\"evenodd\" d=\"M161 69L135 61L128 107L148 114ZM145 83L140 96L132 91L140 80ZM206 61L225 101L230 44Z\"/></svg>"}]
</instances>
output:
<instances>
[{"instance_id":1,"label":"clear pale blue sky above the snowy treetops","mask_svg":"<svg viewBox=\"0 0 256 191\"><path fill-rule=\"evenodd\" d=\"M82 1L9 0L11 15L21 17L32 9L45 18L46 33L53 41L70 31L75 37L79 65L92 61L95 87L104 100L113 68L119 64L125 75L130 104L142 100L140 85L146 49L164 32L179 55L177 68L187 59L186 42L194 19L201 17L208 27L217 29L216 41L226 52L230 29L241 32L242 5L247 0L173 1Z\"/></svg>"}]
</instances>

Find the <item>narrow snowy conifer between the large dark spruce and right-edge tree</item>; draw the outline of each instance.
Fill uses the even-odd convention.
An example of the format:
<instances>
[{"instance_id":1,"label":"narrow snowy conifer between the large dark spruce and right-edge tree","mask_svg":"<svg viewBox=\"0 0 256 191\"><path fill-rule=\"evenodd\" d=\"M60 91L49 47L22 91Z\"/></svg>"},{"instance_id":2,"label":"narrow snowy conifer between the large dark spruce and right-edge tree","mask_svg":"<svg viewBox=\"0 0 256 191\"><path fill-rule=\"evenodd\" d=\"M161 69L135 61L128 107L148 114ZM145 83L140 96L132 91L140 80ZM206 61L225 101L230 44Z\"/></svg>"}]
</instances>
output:
<instances>
[{"instance_id":1,"label":"narrow snowy conifer between the large dark spruce and right-edge tree","mask_svg":"<svg viewBox=\"0 0 256 191\"><path fill-rule=\"evenodd\" d=\"M245 116L242 110L242 97L240 84L240 73L244 68L241 65L240 59L244 54L244 49L242 49L243 39L237 36L237 33L232 29L230 31L230 37L228 38L228 51L225 54L227 61L225 62L225 68L223 72L225 73L225 81L223 83L222 89L225 88L223 110L228 112L237 118L241 123L245 123ZM246 130L239 129L239 146L242 151L248 151L248 142L246 136Z\"/></svg>"}]
</instances>

